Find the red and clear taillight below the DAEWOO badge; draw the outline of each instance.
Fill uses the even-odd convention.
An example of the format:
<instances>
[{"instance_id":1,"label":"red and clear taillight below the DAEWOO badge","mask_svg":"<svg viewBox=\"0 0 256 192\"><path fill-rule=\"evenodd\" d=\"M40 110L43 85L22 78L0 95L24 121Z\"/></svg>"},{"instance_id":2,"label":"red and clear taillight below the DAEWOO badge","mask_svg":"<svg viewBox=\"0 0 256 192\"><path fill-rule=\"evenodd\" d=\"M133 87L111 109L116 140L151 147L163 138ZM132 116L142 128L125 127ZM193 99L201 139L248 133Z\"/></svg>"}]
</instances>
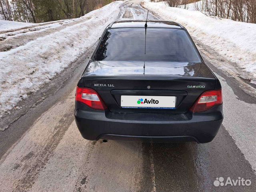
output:
<instances>
[{"instance_id":1,"label":"red and clear taillight below the DAEWOO badge","mask_svg":"<svg viewBox=\"0 0 256 192\"><path fill-rule=\"evenodd\" d=\"M212 90L204 92L194 105L190 108L192 112L203 112L222 104L222 91Z\"/></svg>"}]
</instances>

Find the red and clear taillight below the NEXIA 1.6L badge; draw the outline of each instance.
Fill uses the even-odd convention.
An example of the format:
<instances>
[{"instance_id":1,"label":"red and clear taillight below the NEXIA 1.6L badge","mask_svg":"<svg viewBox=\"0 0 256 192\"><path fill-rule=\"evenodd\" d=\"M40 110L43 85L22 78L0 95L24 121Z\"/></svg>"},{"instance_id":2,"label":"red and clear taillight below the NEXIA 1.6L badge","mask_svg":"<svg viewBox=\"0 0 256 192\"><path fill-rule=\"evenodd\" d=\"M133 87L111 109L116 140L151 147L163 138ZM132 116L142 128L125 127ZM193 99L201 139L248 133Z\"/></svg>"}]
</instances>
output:
<instances>
[{"instance_id":1,"label":"red and clear taillight below the NEXIA 1.6L badge","mask_svg":"<svg viewBox=\"0 0 256 192\"><path fill-rule=\"evenodd\" d=\"M76 88L76 101L82 102L93 109L105 110L106 106L104 102L100 99L100 96L92 90L88 88Z\"/></svg>"}]
</instances>

